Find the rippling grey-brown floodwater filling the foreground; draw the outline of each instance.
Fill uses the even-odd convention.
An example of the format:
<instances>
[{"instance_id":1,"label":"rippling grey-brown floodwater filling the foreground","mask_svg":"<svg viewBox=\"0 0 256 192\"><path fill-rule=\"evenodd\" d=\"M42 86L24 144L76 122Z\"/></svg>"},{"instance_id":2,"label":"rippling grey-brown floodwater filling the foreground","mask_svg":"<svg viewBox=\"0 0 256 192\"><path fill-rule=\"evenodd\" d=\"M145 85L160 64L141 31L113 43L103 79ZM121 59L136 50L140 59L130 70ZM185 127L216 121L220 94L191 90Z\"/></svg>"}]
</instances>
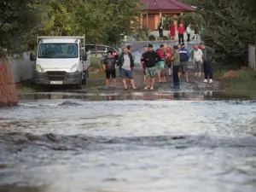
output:
<instances>
[{"instance_id":1,"label":"rippling grey-brown floodwater filling the foreground","mask_svg":"<svg viewBox=\"0 0 256 192\"><path fill-rule=\"evenodd\" d=\"M168 98L0 109L0 191L255 192L256 102Z\"/></svg>"}]
</instances>

